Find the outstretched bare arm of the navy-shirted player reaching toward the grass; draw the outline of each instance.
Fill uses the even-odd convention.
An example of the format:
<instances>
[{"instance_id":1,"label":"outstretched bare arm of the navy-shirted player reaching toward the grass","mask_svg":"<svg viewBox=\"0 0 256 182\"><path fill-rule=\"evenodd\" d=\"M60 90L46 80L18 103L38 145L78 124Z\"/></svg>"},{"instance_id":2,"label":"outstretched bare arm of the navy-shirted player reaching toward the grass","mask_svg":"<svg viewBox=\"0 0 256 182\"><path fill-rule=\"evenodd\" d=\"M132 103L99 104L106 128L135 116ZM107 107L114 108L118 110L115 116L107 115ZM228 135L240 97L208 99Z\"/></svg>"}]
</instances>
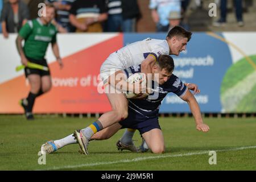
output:
<instances>
[{"instance_id":1,"label":"outstretched bare arm of the navy-shirted player reaching toward the grass","mask_svg":"<svg viewBox=\"0 0 256 182\"><path fill-rule=\"evenodd\" d=\"M193 96L193 94L189 90L187 90L187 92L185 92L185 94L181 96L181 98L186 101L190 107L191 113L195 118L196 129L204 132L209 131L209 126L203 122L199 104L197 103L196 98Z\"/></svg>"}]
</instances>

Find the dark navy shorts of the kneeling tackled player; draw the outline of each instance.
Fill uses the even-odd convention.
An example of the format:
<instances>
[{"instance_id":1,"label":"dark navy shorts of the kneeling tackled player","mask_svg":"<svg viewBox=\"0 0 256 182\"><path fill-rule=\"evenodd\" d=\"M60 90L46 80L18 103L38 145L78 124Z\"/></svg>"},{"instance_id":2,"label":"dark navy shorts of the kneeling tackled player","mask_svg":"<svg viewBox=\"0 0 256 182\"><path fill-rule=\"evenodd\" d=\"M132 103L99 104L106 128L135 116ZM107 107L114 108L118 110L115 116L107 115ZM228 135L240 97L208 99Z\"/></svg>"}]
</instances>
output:
<instances>
[{"instance_id":1,"label":"dark navy shorts of the kneeling tackled player","mask_svg":"<svg viewBox=\"0 0 256 182\"><path fill-rule=\"evenodd\" d=\"M161 130L158 122L158 116L147 117L146 115L137 113L137 111L131 109L130 107L128 107L128 113L129 115L126 119L119 121L119 124L122 125L122 129L137 129L141 135L152 129Z\"/></svg>"}]
</instances>

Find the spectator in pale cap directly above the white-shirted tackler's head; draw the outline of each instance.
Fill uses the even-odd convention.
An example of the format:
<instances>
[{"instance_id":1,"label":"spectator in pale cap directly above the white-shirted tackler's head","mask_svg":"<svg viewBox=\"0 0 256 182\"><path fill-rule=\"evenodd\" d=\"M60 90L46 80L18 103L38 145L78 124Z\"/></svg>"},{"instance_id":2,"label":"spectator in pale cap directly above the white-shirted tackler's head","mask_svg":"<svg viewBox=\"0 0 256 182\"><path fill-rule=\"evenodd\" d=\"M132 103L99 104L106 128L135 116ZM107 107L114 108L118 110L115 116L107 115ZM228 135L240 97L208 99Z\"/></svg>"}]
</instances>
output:
<instances>
[{"instance_id":1,"label":"spectator in pale cap directly above the white-shirted tackler's head","mask_svg":"<svg viewBox=\"0 0 256 182\"><path fill-rule=\"evenodd\" d=\"M170 31L172 28L175 26L181 26L185 28L185 30L189 30L189 26L187 24L184 24L182 22L182 15L180 11L171 11L169 14L169 30Z\"/></svg>"}]
</instances>

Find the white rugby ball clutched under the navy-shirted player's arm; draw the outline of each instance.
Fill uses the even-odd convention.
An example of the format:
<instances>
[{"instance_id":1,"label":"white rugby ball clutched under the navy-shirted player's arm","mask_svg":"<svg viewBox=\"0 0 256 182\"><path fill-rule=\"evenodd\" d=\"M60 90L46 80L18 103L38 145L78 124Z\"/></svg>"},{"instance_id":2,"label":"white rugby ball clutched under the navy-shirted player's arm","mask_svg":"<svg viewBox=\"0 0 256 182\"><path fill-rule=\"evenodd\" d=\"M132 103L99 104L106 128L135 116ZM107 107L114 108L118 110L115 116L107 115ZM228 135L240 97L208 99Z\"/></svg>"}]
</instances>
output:
<instances>
[{"instance_id":1,"label":"white rugby ball clutched under the navy-shirted player's arm","mask_svg":"<svg viewBox=\"0 0 256 182\"><path fill-rule=\"evenodd\" d=\"M138 82L142 80L141 84L142 86L147 86L147 78L146 75L144 73L134 73L133 75L129 76L129 78L127 78L127 82L129 82L130 84L133 84L134 82ZM126 98L134 98L137 97L138 94L136 93L132 93L132 92L126 92L124 93ZM143 93L143 97L147 97L148 93Z\"/></svg>"}]
</instances>

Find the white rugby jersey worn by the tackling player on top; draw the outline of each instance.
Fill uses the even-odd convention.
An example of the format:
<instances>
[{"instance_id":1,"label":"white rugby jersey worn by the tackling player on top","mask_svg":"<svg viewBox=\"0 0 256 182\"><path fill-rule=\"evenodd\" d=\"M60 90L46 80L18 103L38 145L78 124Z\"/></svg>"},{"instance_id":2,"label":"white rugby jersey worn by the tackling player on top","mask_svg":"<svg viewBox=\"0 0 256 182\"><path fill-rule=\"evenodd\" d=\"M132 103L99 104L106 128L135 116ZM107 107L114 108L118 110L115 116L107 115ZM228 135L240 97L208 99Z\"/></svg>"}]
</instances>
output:
<instances>
[{"instance_id":1,"label":"white rugby jersey worn by the tackling player on top","mask_svg":"<svg viewBox=\"0 0 256 182\"><path fill-rule=\"evenodd\" d=\"M170 55L167 41L147 38L113 52L102 67L125 69L141 64L148 55L152 55L157 60L163 54Z\"/></svg>"}]
</instances>

